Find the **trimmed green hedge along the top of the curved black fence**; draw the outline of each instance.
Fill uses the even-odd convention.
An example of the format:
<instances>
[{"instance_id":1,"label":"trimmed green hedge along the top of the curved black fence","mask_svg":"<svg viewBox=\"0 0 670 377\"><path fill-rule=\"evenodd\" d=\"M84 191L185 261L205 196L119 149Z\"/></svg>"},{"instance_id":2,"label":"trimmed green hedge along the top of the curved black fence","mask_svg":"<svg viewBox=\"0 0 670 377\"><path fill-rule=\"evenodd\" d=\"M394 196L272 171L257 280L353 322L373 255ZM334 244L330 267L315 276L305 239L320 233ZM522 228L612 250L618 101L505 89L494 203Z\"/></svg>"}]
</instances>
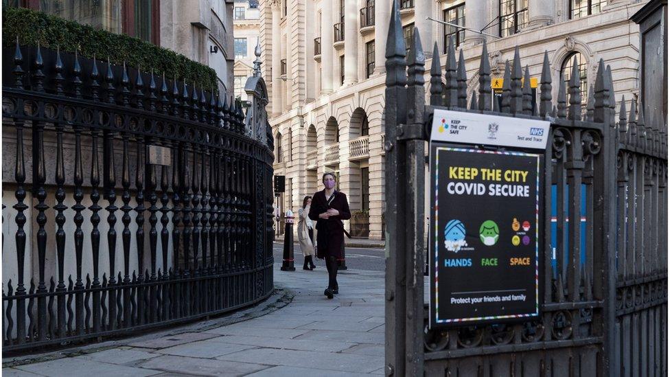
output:
<instances>
[{"instance_id":1,"label":"trimmed green hedge along the top of the curved black fence","mask_svg":"<svg viewBox=\"0 0 670 377\"><path fill-rule=\"evenodd\" d=\"M198 87L218 91L218 80L213 69L169 49L36 10L3 7L3 47L14 47L16 36L19 36L21 45L36 46L39 42L50 49L60 46L62 52L72 54L78 49L79 54L87 58L95 55L100 60L109 58L115 64L125 61L130 66L141 67L143 71L154 69L158 74L164 72L167 78L196 82Z\"/></svg>"}]
</instances>

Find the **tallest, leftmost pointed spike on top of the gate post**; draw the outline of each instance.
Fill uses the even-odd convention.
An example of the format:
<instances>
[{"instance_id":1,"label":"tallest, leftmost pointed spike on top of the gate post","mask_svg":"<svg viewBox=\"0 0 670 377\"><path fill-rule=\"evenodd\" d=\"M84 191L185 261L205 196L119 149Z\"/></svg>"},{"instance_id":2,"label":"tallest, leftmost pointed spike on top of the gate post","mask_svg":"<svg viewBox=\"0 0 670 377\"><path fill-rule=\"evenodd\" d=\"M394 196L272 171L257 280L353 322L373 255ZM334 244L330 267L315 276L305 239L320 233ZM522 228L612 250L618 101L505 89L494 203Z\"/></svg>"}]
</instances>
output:
<instances>
[{"instance_id":1,"label":"tallest, leftmost pointed spike on top of the gate post","mask_svg":"<svg viewBox=\"0 0 670 377\"><path fill-rule=\"evenodd\" d=\"M386 87L404 87L407 77L405 74L405 38L402 34L400 9L396 0L391 7L391 21L389 33L386 35Z\"/></svg>"}]
</instances>

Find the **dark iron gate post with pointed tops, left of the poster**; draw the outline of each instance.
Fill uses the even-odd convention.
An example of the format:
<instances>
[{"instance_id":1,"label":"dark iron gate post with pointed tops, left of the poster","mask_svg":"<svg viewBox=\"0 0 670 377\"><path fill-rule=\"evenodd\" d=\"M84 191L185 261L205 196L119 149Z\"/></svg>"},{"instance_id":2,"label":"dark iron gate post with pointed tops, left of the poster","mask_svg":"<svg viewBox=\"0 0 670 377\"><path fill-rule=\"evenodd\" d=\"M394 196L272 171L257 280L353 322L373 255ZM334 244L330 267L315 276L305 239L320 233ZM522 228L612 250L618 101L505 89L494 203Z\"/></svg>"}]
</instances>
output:
<instances>
[{"instance_id":1,"label":"dark iron gate post with pointed tops, left of the poster","mask_svg":"<svg viewBox=\"0 0 670 377\"><path fill-rule=\"evenodd\" d=\"M424 52L410 56L397 0L386 41L386 376L424 374ZM405 73L405 67L408 67ZM405 84L407 88L405 89ZM406 107L407 106L407 107Z\"/></svg>"}]
</instances>

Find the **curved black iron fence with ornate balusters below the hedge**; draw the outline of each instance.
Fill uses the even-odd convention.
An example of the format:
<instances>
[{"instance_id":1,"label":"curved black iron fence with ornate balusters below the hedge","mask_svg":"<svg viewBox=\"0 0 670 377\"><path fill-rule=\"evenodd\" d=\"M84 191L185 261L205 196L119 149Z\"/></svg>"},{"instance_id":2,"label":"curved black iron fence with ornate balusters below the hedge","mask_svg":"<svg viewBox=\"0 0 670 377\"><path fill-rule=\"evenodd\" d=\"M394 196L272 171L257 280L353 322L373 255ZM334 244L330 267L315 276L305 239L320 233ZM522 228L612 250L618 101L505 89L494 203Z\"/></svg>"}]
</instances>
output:
<instances>
[{"instance_id":1,"label":"curved black iron fence with ornate balusters below the hedge","mask_svg":"<svg viewBox=\"0 0 670 377\"><path fill-rule=\"evenodd\" d=\"M4 54L3 352L271 293L272 147L238 102L95 58Z\"/></svg>"}]
</instances>

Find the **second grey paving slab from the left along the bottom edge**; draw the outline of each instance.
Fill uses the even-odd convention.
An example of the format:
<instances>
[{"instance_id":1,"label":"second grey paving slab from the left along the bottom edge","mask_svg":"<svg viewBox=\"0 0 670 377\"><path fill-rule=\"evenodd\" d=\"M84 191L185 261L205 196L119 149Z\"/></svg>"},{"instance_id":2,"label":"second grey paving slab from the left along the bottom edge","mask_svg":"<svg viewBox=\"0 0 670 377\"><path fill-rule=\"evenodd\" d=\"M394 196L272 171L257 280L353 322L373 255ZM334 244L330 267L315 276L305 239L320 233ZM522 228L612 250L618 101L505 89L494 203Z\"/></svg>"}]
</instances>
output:
<instances>
[{"instance_id":1,"label":"second grey paving slab from the left along the bottom edge","mask_svg":"<svg viewBox=\"0 0 670 377\"><path fill-rule=\"evenodd\" d=\"M246 376L266 369L268 365L166 355L151 358L142 363L141 367L174 374L191 374L196 376Z\"/></svg>"}]
</instances>

